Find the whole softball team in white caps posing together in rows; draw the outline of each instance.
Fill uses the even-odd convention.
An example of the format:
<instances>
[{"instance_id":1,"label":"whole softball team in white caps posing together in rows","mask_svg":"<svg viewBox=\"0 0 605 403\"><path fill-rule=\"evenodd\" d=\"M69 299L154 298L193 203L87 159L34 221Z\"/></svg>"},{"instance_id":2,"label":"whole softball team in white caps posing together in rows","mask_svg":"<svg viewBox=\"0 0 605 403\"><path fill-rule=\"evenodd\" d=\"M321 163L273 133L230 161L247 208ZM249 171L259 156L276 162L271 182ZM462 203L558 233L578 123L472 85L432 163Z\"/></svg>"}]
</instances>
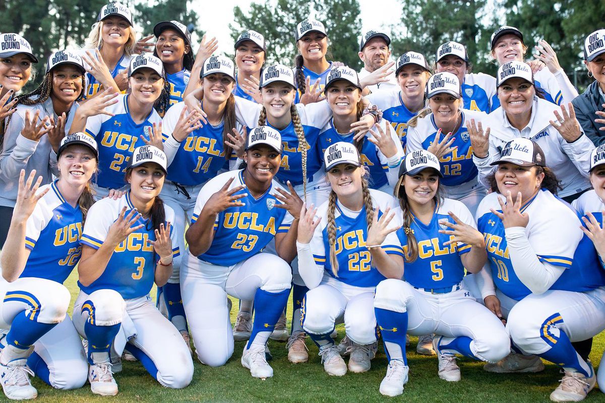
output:
<instances>
[{"instance_id":1,"label":"whole softball team in white caps posing together in rows","mask_svg":"<svg viewBox=\"0 0 605 403\"><path fill-rule=\"evenodd\" d=\"M509 25L485 44L493 77L453 40L391 54L381 28L356 71L312 18L273 65L263 32L226 49L180 21L134 24L107 4L86 44L46 60L0 34L8 399L38 397L33 377L59 401L118 395L126 366L237 387L212 379L232 361L275 387L274 367L372 370L366 399L405 399L410 348L445 393L475 360L490 384L546 363L560 374L544 399L603 398L605 24L577 49L582 94L546 40Z\"/></svg>"}]
</instances>

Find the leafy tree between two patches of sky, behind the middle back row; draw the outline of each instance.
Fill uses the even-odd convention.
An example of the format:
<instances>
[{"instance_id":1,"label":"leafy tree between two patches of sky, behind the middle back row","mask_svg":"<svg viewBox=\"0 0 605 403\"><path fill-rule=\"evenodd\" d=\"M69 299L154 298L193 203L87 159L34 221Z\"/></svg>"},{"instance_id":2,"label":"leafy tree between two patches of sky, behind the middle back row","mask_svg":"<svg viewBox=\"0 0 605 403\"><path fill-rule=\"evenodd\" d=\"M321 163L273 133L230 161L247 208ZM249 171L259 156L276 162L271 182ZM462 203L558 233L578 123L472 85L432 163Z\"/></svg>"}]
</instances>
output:
<instances>
[{"instance_id":1,"label":"leafy tree between two patches of sky, behind the middle back row","mask_svg":"<svg viewBox=\"0 0 605 403\"><path fill-rule=\"evenodd\" d=\"M244 30L255 30L264 35L268 51L267 63L293 65L298 53L294 30L298 22L309 17L323 22L330 39L332 60L338 60L352 68L361 68L357 55L361 19L357 0L276 0L252 3L247 12L234 8L234 24L229 24L235 40Z\"/></svg>"}]
</instances>

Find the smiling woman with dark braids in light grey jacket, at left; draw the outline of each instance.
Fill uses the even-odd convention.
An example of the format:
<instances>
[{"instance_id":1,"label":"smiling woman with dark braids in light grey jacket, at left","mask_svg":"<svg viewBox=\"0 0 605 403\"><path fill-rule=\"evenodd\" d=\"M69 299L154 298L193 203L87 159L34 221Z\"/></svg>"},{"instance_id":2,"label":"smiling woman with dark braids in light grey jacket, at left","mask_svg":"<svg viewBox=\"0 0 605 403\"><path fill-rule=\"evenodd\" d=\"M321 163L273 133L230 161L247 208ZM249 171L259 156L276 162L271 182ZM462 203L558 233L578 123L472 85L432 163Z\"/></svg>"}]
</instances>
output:
<instances>
[{"instance_id":1,"label":"smiling woman with dark braids in light grey jacket, at left","mask_svg":"<svg viewBox=\"0 0 605 403\"><path fill-rule=\"evenodd\" d=\"M77 54L57 51L48 57L41 85L30 94L19 97L16 112L7 118L4 150L0 155L0 216L9 222L17 198L14 186L21 169L35 169L42 183L56 175L57 151L69 131L77 100L83 96L84 66ZM45 135L46 134L46 135ZM0 247L6 232L0 233Z\"/></svg>"}]
</instances>

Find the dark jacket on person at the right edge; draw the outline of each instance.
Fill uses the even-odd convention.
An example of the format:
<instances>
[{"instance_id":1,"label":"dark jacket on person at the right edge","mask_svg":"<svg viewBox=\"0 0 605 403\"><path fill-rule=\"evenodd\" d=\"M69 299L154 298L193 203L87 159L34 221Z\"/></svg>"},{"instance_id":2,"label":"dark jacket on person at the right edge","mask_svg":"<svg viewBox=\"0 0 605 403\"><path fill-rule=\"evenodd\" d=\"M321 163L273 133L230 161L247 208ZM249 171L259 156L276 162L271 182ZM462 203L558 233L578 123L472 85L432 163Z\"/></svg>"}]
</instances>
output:
<instances>
[{"instance_id":1,"label":"dark jacket on person at the right edge","mask_svg":"<svg viewBox=\"0 0 605 403\"><path fill-rule=\"evenodd\" d=\"M597 147L601 144L605 144L605 130L599 130L599 127L605 127L605 124L595 123L595 119L603 119L603 117L598 116L595 112L605 112L598 85L599 83L595 80L595 82L586 88L584 94L578 95L572 101L575 117L580 122L584 134L586 134Z\"/></svg>"}]
</instances>

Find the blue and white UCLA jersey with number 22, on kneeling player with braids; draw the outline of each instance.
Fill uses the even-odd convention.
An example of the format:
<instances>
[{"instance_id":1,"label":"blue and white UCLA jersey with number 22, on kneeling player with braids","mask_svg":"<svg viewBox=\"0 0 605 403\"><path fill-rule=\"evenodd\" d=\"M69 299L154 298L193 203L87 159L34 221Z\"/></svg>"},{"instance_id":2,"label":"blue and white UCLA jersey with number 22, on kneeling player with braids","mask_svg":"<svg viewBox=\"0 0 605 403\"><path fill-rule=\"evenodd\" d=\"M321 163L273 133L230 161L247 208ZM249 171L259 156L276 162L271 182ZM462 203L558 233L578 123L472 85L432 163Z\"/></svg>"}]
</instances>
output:
<instances>
[{"instance_id":1,"label":"blue and white UCLA jersey with number 22, on kneeling player with braids","mask_svg":"<svg viewBox=\"0 0 605 403\"><path fill-rule=\"evenodd\" d=\"M387 208L396 207L395 199L387 193L370 189L374 210L379 208L379 216ZM368 225L365 208L355 212L345 208L336 199L334 223L336 227L336 260L338 260L338 276L334 276L330 265L330 240L327 233L329 201L319 206L317 216L321 222L315 228L310 248L316 265L324 266L325 276L358 287L375 287L385 279L378 269L371 264L370 251L367 250L365 239ZM387 235L381 248L387 254L403 256L403 250L394 232Z\"/></svg>"}]
</instances>

